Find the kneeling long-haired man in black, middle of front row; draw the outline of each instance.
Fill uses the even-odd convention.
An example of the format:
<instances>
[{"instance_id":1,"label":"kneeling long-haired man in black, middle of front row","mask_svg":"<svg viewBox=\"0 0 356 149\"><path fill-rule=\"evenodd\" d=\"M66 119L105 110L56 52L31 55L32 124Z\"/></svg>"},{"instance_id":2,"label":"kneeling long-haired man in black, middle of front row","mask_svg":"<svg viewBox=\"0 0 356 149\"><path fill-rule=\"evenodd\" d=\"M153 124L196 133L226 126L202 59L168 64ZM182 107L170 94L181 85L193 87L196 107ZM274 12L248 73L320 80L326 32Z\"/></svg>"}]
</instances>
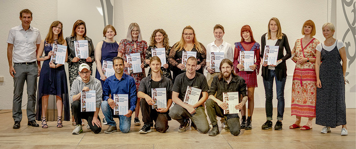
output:
<instances>
[{"instance_id":1,"label":"kneeling long-haired man in black, middle of front row","mask_svg":"<svg viewBox=\"0 0 356 149\"><path fill-rule=\"evenodd\" d=\"M161 60L159 57L153 56L150 59L150 67L152 71L151 75L141 80L137 93L138 98L141 98L140 105L142 121L144 123L139 133L146 134L151 132L151 125L153 126L153 121L155 121L156 130L164 133L169 128L168 121L171 120L171 117L168 115L168 111L172 105L173 83L168 77L162 75L163 72L161 71ZM152 89L156 88L166 89L167 108L152 109L154 101L152 99L153 97L151 97L151 92Z\"/></svg>"}]
</instances>

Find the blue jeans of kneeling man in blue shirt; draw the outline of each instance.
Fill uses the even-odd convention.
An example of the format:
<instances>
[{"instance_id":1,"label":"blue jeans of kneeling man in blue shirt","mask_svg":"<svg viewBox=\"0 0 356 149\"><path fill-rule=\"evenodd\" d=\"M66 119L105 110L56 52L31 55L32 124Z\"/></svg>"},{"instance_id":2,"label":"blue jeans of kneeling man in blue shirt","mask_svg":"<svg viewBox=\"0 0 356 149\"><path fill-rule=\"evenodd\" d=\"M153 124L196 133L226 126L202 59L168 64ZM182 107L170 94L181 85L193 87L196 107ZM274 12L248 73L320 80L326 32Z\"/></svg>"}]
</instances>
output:
<instances>
[{"instance_id":1,"label":"blue jeans of kneeling man in blue shirt","mask_svg":"<svg viewBox=\"0 0 356 149\"><path fill-rule=\"evenodd\" d=\"M130 131L131 127L131 117L126 117L124 115L113 115L113 109L108 104L108 101L103 101L101 103L101 110L105 116L108 125L116 127L116 122L114 121L114 117L119 118L119 127L121 132L127 133Z\"/></svg>"}]
</instances>

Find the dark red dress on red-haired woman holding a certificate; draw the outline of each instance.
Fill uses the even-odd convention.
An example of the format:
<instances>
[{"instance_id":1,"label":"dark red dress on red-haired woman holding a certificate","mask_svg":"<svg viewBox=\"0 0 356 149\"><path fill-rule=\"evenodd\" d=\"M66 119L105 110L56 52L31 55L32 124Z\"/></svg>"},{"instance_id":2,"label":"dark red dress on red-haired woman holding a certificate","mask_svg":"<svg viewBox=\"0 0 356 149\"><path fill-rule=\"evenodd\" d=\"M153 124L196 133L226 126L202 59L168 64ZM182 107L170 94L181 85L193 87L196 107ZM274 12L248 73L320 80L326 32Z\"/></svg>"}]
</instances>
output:
<instances>
[{"instance_id":1,"label":"dark red dress on red-haired woman holding a certificate","mask_svg":"<svg viewBox=\"0 0 356 149\"><path fill-rule=\"evenodd\" d=\"M236 68L239 64L240 51L254 51L256 59L256 69L252 71L240 71ZM260 56L260 44L257 42L235 42L235 54L234 54L234 70L237 75L243 77L246 81L247 88L257 88L257 75L260 71L261 56Z\"/></svg>"}]
</instances>

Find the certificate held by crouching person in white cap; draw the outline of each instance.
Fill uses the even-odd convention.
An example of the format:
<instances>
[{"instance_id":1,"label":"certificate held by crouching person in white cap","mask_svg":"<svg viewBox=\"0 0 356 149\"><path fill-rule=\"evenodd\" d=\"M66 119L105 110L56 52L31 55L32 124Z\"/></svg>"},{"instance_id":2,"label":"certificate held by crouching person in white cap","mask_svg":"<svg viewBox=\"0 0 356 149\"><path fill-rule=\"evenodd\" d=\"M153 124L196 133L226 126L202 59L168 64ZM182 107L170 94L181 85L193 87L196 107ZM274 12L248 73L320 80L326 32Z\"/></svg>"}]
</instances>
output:
<instances>
[{"instance_id":1,"label":"certificate held by crouching person in white cap","mask_svg":"<svg viewBox=\"0 0 356 149\"><path fill-rule=\"evenodd\" d=\"M96 93L95 90L88 92L82 91L80 93L81 109L80 112L94 112L96 111Z\"/></svg>"}]
</instances>

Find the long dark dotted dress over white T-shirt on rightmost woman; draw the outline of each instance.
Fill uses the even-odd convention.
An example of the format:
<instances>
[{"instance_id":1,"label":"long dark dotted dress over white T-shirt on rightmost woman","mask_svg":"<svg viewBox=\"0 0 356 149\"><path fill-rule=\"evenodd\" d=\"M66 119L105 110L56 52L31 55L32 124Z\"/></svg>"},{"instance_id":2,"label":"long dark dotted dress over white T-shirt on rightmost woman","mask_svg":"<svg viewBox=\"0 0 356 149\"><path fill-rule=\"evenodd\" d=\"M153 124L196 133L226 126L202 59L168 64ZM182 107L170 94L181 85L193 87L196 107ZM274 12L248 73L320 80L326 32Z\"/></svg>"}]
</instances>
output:
<instances>
[{"instance_id":1,"label":"long dark dotted dress over white T-shirt on rightmost woman","mask_svg":"<svg viewBox=\"0 0 356 149\"><path fill-rule=\"evenodd\" d=\"M315 123L331 128L346 125L345 81L337 46L332 51L322 48L321 61L319 71L321 88L316 89Z\"/></svg>"}]
</instances>

